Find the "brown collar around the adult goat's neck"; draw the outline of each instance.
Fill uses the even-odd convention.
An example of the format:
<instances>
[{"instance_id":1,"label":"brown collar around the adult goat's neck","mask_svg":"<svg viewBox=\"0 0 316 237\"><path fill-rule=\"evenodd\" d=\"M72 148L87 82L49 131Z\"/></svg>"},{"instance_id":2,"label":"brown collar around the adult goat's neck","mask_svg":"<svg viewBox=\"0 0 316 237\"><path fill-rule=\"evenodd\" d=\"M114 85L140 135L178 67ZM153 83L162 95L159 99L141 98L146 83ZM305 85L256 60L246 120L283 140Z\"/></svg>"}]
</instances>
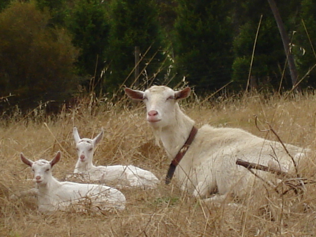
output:
<instances>
[{"instance_id":1,"label":"brown collar around the adult goat's neck","mask_svg":"<svg viewBox=\"0 0 316 237\"><path fill-rule=\"evenodd\" d=\"M166 176L166 179L165 179L165 184L170 184L172 176L173 176L173 173L174 173L177 165L179 164L180 160L186 154L186 152L189 149L191 143L193 142L196 134L197 134L197 128L195 126L193 126L186 143L180 149L180 151L178 152L176 157L171 161L171 164L169 166L168 173L167 173L167 176Z\"/></svg>"}]
</instances>

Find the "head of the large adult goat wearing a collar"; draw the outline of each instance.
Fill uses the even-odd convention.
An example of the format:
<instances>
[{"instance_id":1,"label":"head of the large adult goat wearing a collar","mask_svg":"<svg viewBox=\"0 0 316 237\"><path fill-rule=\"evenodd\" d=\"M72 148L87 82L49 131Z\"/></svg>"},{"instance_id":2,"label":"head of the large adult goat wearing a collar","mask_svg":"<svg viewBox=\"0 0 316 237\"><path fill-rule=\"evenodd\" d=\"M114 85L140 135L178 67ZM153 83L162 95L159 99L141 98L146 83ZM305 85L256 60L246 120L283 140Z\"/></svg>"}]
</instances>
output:
<instances>
[{"instance_id":1,"label":"head of the large adult goat wearing a collar","mask_svg":"<svg viewBox=\"0 0 316 237\"><path fill-rule=\"evenodd\" d=\"M190 87L179 91L157 85L145 91L125 88L129 98L144 101L147 109L146 119L153 127L163 127L174 121L178 100L187 98L190 92Z\"/></svg>"}]
</instances>

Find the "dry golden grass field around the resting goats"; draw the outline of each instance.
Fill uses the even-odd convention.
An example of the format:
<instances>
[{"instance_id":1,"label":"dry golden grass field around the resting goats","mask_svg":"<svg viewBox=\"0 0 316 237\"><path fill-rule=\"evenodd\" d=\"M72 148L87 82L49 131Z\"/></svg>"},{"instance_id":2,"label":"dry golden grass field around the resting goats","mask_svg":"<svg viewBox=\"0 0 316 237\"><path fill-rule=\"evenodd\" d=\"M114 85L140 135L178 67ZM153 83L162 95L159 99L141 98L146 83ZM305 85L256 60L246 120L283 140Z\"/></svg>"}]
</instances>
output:
<instances>
[{"instance_id":1,"label":"dry golden grass field around the resting goats","mask_svg":"<svg viewBox=\"0 0 316 237\"><path fill-rule=\"evenodd\" d=\"M316 95L295 98L263 96L218 97L201 103L195 98L181 102L183 110L197 122L214 126L240 127L258 136L316 148ZM62 160L53 175L63 180L75 167L77 154L73 126L81 137L94 137L105 130L105 137L95 151L97 165L133 164L156 174L161 184L156 190L122 189L126 209L111 213L37 211L34 197L10 200L34 187L31 169L19 158L50 160L57 151ZM316 156L301 169L309 182L316 180ZM288 192L278 195L267 189L266 195L236 200L238 205L204 203L183 193L173 180L164 184L169 165L164 150L155 146L154 136L145 121L141 102L123 98L116 105L82 99L73 109L51 119L35 110L0 123L0 237L309 237L316 236L316 185L306 184L301 195ZM286 186L284 186L284 189ZM256 193L256 190L254 190ZM259 200L258 198L261 198ZM270 208L258 209L253 203L264 199ZM245 204L243 204L245 203ZM273 210L273 211L271 211ZM271 214L271 213L274 214Z\"/></svg>"}]
</instances>

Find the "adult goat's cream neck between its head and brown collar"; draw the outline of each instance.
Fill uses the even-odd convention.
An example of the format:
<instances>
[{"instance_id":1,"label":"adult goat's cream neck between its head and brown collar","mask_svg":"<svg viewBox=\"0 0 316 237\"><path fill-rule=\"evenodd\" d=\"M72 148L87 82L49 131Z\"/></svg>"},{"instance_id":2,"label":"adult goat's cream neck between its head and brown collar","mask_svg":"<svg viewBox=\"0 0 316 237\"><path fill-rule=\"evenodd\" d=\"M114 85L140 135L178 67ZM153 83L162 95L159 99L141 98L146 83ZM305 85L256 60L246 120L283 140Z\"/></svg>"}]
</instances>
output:
<instances>
[{"instance_id":1,"label":"adult goat's cream neck between its head and brown collar","mask_svg":"<svg viewBox=\"0 0 316 237\"><path fill-rule=\"evenodd\" d=\"M194 124L195 121L186 116L177 107L174 121L170 125L161 128L159 137L171 160L177 155L188 139Z\"/></svg>"}]
</instances>

